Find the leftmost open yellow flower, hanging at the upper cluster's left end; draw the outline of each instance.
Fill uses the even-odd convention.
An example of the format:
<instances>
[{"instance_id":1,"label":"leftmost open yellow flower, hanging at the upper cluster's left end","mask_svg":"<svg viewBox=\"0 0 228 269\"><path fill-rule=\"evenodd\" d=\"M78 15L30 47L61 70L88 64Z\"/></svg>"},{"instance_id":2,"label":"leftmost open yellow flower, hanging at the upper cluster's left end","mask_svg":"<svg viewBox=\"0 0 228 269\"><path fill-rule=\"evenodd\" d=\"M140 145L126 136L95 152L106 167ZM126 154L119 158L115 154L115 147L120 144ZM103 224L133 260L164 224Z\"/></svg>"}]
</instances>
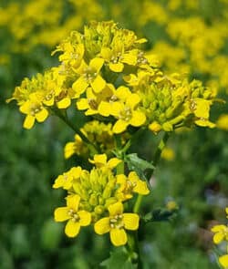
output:
<instances>
[{"instance_id":1,"label":"leftmost open yellow flower, hanging at the upper cluster's left end","mask_svg":"<svg viewBox=\"0 0 228 269\"><path fill-rule=\"evenodd\" d=\"M23 127L31 129L35 121L43 122L48 117L47 109L42 105L42 102L37 98L36 94L31 94L29 99L20 106L20 111L26 114Z\"/></svg>"}]
</instances>

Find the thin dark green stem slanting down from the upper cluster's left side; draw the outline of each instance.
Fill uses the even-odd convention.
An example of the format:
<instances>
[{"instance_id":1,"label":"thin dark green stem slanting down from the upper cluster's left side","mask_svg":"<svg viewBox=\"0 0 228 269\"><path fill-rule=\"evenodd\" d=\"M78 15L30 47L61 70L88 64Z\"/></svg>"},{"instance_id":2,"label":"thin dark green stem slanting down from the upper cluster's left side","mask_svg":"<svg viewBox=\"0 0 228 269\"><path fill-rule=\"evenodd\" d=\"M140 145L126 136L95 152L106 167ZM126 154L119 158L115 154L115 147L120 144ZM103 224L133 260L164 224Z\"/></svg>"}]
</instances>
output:
<instances>
[{"instance_id":1,"label":"thin dark green stem slanting down from the upper cluster's left side","mask_svg":"<svg viewBox=\"0 0 228 269\"><path fill-rule=\"evenodd\" d=\"M98 149L96 148L96 146L93 145L92 142L89 141L88 138L83 134L83 132L67 118L67 113L62 113L60 110L56 109L54 111L54 114L59 119L62 119L69 128L73 129L80 136L81 140L83 140L87 144L88 149L91 151L92 155L98 154Z\"/></svg>"}]
</instances>

